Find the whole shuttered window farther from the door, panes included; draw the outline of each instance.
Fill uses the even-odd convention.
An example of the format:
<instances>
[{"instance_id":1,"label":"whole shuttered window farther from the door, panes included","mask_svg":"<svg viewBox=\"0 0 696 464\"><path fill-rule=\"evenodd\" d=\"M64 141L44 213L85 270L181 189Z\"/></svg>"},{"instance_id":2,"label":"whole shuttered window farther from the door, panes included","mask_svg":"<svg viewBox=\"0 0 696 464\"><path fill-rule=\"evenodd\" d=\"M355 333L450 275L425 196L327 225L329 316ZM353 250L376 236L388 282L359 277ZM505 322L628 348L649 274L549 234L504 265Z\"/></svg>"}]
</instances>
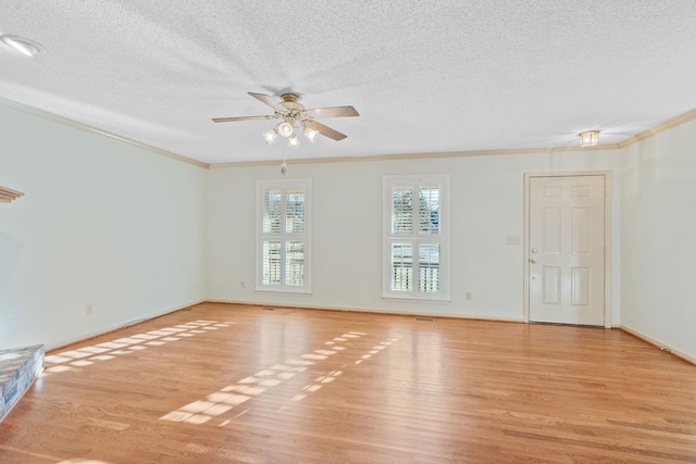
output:
<instances>
[{"instance_id":1,"label":"whole shuttered window farther from the door, panes included","mask_svg":"<svg viewBox=\"0 0 696 464\"><path fill-rule=\"evenodd\" d=\"M257 290L310 292L311 180L259 180Z\"/></svg>"}]
</instances>

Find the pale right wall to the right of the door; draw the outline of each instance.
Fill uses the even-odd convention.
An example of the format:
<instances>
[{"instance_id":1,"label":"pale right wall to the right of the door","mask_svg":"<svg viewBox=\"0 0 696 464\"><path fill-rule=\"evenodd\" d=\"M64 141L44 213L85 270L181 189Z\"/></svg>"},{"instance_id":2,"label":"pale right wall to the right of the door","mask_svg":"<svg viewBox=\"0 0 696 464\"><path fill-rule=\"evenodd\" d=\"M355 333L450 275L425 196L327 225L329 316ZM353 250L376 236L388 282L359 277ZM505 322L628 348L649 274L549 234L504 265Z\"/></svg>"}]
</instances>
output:
<instances>
[{"instance_id":1,"label":"pale right wall to the right of the door","mask_svg":"<svg viewBox=\"0 0 696 464\"><path fill-rule=\"evenodd\" d=\"M696 360L696 121L626 147L621 324Z\"/></svg>"}]
</instances>

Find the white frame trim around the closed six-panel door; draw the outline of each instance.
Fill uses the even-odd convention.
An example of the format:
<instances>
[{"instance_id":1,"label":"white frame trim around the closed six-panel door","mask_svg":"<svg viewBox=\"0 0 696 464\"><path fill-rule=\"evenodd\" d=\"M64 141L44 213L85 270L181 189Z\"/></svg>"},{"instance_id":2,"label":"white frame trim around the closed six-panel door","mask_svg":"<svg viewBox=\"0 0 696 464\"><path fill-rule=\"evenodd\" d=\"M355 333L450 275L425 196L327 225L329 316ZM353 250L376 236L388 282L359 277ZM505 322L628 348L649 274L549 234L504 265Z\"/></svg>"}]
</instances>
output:
<instances>
[{"instance_id":1,"label":"white frame trim around the closed six-panel door","mask_svg":"<svg viewBox=\"0 0 696 464\"><path fill-rule=\"evenodd\" d=\"M605 178L605 328L611 328L611 171L524 173L524 322L530 322L530 213L533 177L604 176Z\"/></svg>"}]
</instances>

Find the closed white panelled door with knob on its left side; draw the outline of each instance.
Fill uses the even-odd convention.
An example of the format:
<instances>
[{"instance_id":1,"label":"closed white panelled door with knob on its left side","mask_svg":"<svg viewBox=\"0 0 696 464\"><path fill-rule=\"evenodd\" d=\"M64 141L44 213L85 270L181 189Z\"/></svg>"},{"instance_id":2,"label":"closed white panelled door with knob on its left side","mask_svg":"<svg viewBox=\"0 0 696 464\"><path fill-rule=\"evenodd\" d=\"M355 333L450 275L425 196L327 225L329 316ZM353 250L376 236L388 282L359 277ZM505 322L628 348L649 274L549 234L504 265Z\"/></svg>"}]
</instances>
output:
<instances>
[{"instance_id":1,"label":"closed white panelled door with knob on its left side","mask_svg":"<svg viewBox=\"0 0 696 464\"><path fill-rule=\"evenodd\" d=\"M530 322L605 324L605 176L530 178Z\"/></svg>"}]
</instances>

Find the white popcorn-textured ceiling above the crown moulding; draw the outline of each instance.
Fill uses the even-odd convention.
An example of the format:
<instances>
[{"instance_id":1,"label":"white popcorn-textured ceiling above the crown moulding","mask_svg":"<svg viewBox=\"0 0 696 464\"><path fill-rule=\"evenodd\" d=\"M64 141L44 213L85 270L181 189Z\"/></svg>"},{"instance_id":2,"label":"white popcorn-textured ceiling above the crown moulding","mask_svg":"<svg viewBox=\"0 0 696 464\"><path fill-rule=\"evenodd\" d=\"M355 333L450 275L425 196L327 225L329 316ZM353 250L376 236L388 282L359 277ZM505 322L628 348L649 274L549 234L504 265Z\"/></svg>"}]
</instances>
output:
<instances>
[{"instance_id":1,"label":"white popcorn-textured ceiling above the crown moulding","mask_svg":"<svg viewBox=\"0 0 696 464\"><path fill-rule=\"evenodd\" d=\"M348 135L288 160L602 143L696 108L694 0L2 0L0 97L206 163L277 160L297 92ZM279 100L279 98L277 98Z\"/></svg>"}]
</instances>

